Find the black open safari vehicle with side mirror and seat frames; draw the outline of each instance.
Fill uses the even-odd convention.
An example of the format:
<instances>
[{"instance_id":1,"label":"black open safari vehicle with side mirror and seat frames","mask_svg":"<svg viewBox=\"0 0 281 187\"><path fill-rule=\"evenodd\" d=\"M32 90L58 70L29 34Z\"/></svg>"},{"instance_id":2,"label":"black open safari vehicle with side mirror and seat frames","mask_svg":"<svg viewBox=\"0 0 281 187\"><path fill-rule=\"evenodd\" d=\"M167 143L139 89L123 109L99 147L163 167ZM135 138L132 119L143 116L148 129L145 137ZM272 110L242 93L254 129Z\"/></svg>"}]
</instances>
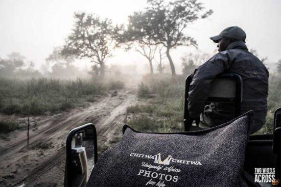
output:
<instances>
[{"instance_id":1,"label":"black open safari vehicle with side mirror and seat frames","mask_svg":"<svg viewBox=\"0 0 281 187\"><path fill-rule=\"evenodd\" d=\"M192 81L188 76L185 81L184 130L200 130L198 124L192 124L188 116L188 92ZM233 102L236 116L241 113L243 82L238 74L221 74L213 81L206 102ZM246 147L244 170L255 176L255 169L274 168L273 183L261 183L263 186L279 185L281 179L281 108L274 113L273 134L251 135ZM97 132L93 124L77 127L66 139L65 186L86 186L92 168L98 160ZM257 183L249 184L249 186Z\"/></svg>"}]
</instances>

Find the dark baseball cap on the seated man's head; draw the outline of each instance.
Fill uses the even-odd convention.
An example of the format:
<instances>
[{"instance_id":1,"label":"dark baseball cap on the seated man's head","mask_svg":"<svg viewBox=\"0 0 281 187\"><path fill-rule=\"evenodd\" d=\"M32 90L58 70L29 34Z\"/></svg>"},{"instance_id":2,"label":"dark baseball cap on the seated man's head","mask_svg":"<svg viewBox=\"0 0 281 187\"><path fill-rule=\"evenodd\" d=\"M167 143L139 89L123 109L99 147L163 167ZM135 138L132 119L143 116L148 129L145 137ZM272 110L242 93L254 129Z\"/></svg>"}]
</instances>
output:
<instances>
[{"instance_id":1,"label":"dark baseball cap on the seated man's head","mask_svg":"<svg viewBox=\"0 0 281 187\"><path fill-rule=\"evenodd\" d=\"M238 26L229 26L229 28L223 30L219 35L210 37L210 39L213 40L215 43L218 43L219 40L223 37L245 41L246 33Z\"/></svg>"}]
</instances>

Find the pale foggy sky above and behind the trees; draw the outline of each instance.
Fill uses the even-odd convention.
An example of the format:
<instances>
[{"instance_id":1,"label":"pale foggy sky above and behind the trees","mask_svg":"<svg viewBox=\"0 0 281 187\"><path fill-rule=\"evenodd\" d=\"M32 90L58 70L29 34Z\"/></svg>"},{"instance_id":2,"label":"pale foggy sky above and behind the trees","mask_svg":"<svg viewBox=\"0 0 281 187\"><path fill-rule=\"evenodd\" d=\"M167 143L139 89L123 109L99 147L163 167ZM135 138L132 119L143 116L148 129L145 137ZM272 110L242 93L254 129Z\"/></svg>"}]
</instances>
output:
<instances>
[{"instance_id":1,"label":"pale foggy sky above and behind the trees","mask_svg":"<svg viewBox=\"0 0 281 187\"><path fill-rule=\"evenodd\" d=\"M201 51L214 53L216 44L209 37L228 26L240 26L247 34L246 44L256 49L268 63L281 59L281 1L278 0L212 0L200 1L214 14L189 25L186 34L194 37ZM73 27L73 13L86 11L108 17L114 23L126 23L127 16L142 10L146 0L0 0L0 58L12 51L20 52L40 68L55 46L63 45ZM172 51L180 65L184 52L192 47ZM116 50L108 64L148 64L137 52Z\"/></svg>"}]
</instances>

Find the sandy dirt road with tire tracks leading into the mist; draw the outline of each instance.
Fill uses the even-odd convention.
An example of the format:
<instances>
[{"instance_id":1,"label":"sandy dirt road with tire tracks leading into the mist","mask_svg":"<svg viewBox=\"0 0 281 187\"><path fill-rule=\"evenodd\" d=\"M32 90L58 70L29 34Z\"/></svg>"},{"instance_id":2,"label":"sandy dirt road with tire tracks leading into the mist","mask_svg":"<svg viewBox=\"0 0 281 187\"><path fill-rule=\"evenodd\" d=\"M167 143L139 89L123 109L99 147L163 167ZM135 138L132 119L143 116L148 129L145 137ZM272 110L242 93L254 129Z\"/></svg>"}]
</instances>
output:
<instances>
[{"instance_id":1,"label":"sandy dirt road with tire tracks leading into the mist","mask_svg":"<svg viewBox=\"0 0 281 187\"><path fill-rule=\"evenodd\" d=\"M122 134L126 108L135 99L133 94L121 91L114 97L99 98L86 108L31 118L29 149L27 132L23 130L10 133L0 143L0 186L62 186L69 130L85 123L95 124L100 148L108 139Z\"/></svg>"}]
</instances>

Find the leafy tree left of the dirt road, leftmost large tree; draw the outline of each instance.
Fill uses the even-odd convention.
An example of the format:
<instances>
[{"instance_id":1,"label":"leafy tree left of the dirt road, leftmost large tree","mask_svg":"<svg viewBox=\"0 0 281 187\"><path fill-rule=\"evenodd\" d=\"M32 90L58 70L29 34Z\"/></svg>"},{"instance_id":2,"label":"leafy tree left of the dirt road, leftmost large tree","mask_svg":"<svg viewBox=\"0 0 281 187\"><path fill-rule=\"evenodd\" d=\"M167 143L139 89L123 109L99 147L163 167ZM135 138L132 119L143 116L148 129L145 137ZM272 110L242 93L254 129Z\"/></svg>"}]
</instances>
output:
<instances>
[{"instance_id":1,"label":"leafy tree left of the dirt road, leftmost large tree","mask_svg":"<svg viewBox=\"0 0 281 187\"><path fill-rule=\"evenodd\" d=\"M119 29L113 27L110 19L86 13L75 13L73 33L66 39L62 55L90 59L100 65L100 77L105 74L106 60L112 57L112 50L117 46L115 37Z\"/></svg>"}]
</instances>

